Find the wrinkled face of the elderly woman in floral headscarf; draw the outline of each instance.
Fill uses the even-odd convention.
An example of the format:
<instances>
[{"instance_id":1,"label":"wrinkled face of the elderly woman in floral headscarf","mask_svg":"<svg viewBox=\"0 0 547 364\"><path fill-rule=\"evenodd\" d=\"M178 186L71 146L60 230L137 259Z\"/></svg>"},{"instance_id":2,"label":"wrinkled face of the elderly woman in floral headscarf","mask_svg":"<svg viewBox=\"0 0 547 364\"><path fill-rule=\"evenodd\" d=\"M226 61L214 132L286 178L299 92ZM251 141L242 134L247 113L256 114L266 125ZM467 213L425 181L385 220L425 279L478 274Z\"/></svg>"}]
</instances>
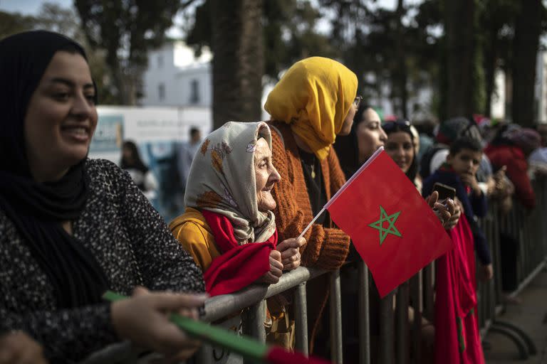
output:
<instances>
[{"instance_id":1,"label":"wrinkled face of the elderly woman in floral headscarf","mask_svg":"<svg viewBox=\"0 0 547 364\"><path fill-rule=\"evenodd\" d=\"M271 163L271 149L264 138L256 141L254 176L256 179L256 202L259 205L259 211L273 210L276 208L276 200L271 196L271 189L281 179L281 176Z\"/></svg>"}]
</instances>

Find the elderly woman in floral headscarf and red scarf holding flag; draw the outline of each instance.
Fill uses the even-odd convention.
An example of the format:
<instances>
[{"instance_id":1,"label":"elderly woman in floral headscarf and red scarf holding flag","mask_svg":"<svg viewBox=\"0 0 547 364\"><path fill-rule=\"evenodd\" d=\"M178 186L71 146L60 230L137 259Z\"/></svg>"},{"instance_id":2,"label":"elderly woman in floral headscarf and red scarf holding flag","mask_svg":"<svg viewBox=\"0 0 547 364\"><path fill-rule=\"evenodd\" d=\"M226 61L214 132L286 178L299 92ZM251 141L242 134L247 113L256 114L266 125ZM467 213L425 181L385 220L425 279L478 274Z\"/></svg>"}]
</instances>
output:
<instances>
[{"instance_id":1,"label":"elderly woman in floral headscarf and red scarf holding flag","mask_svg":"<svg viewBox=\"0 0 547 364\"><path fill-rule=\"evenodd\" d=\"M204 271L212 296L257 280L276 283L283 270L300 266L298 248L305 239L277 244L271 190L279 179L264 122L227 122L194 156L186 210L170 229Z\"/></svg>"}]
</instances>

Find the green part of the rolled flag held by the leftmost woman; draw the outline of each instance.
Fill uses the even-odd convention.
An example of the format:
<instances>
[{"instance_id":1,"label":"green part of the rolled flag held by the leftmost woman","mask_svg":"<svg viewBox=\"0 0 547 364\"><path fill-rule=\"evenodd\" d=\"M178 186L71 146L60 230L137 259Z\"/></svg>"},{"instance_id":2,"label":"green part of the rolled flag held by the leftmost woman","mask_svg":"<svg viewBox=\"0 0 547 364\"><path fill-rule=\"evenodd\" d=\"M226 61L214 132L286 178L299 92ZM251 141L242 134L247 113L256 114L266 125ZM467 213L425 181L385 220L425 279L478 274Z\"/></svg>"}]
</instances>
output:
<instances>
[{"instance_id":1,"label":"green part of the rolled flag held by the leftmost woman","mask_svg":"<svg viewBox=\"0 0 547 364\"><path fill-rule=\"evenodd\" d=\"M120 299L127 298L129 297L113 291L107 291L103 295L103 299L108 301L119 301ZM211 326L207 323L195 321L177 314L170 314L169 319L192 338L220 346L246 359L254 360L257 363L266 363L269 347L264 343L244 336L238 336L224 328Z\"/></svg>"}]
</instances>

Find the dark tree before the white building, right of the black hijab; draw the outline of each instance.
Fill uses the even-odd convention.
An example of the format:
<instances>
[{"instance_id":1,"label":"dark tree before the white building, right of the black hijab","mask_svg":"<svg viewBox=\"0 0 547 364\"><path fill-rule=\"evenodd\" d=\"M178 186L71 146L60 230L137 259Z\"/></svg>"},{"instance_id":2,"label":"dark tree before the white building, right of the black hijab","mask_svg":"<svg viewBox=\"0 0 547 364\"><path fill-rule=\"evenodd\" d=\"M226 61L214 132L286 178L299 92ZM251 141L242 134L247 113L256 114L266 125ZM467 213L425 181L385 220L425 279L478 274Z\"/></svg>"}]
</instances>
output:
<instances>
[{"instance_id":1,"label":"dark tree before the white building, right of the black hijab","mask_svg":"<svg viewBox=\"0 0 547 364\"><path fill-rule=\"evenodd\" d=\"M165 41L165 31L181 8L179 0L74 0L92 48L105 50L113 94L135 105L147 51Z\"/></svg>"}]
</instances>

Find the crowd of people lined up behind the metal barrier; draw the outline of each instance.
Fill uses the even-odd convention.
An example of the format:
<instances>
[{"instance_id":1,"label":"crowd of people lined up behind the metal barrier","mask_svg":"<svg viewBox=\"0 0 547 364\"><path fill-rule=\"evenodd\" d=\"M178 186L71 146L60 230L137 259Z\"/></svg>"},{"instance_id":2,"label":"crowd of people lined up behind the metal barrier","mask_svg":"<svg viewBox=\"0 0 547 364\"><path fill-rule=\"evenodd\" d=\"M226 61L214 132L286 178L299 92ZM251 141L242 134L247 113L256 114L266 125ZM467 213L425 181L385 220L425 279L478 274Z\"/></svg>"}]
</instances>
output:
<instances>
[{"instance_id":1,"label":"crowd of people lined up behind the metal barrier","mask_svg":"<svg viewBox=\"0 0 547 364\"><path fill-rule=\"evenodd\" d=\"M208 296L275 284L301 265L343 267L350 284L360 257L328 213L299 235L380 146L454 242L437 259L437 309L427 323L444 329L434 331L430 359L484 362L474 252L479 277L491 279L493 269L476 216L487 198L506 213L513 193L534 207L528 169L545 176L545 132L450 119L420 159L412 124L382 122L357 90L358 77L335 60L295 63L266 100L268 122L227 122L184 149L184 210L167 225L142 193L155 182L135 144L123 146L125 171L88 158L100 95L83 48L47 31L1 40L0 363L72 363L124 340L175 363L199 343L170 312L199 319ZM454 199L438 200L435 182L452 186ZM514 242L505 244L511 264ZM310 350L320 355L329 347L325 277L306 288ZM107 303L107 290L130 298ZM290 294L268 300L269 342L294 347L292 307Z\"/></svg>"}]
</instances>

